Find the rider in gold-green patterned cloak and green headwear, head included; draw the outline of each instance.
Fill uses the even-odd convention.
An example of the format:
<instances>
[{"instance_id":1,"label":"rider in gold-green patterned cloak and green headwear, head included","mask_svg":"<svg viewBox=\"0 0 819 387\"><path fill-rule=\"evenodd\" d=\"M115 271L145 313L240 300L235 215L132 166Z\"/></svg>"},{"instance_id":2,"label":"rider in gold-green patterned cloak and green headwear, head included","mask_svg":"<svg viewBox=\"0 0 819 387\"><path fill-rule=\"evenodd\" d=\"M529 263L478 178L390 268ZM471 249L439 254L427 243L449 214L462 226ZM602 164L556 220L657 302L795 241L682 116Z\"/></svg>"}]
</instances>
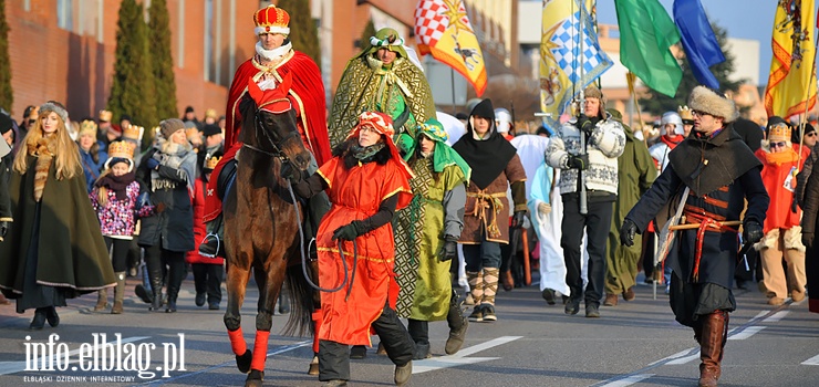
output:
<instances>
[{"instance_id":1,"label":"rider in gold-green patterned cloak and green headwear, head included","mask_svg":"<svg viewBox=\"0 0 819 387\"><path fill-rule=\"evenodd\" d=\"M348 62L330 112L331 145L344 140L363 111L388 114L396 138L402 133L415 138L417 124L436 118L429 83L407 50L398 31L383 28Z\"/></svg>"}]
</instances>

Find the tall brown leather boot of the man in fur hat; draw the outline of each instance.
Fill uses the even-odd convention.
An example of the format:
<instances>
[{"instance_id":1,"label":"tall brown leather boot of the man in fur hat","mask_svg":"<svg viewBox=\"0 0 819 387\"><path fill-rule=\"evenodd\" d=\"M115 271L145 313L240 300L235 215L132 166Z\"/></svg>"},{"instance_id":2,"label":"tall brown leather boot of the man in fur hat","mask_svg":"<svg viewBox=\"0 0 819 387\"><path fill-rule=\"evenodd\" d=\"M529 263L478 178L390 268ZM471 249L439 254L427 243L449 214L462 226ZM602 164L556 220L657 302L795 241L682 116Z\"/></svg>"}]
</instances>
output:
<instances>
[{"instance_id":1,"label":"tall brown leather boot of the man in fur hat","mask_svg":"<svg viewBox=\"0 0 819 387\"><path fill-rule=\"evenodd\" d=\"M728 338L728 312L716 311L703 317L699 339L699 386L714 387L719 379L723 349Z\"/></svg>"}]
</instances>

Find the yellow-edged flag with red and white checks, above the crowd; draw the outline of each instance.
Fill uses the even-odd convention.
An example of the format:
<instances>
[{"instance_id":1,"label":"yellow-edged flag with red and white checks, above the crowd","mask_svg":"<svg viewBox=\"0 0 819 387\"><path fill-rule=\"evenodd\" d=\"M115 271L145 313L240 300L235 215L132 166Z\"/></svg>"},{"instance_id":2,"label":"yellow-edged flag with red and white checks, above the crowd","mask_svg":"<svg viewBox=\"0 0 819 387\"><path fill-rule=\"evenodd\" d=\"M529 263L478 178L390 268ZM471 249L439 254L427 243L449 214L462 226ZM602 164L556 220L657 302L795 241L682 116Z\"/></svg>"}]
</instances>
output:
<instances>
[{"instance_id":1,"label":"yellow-edged flag with red and white checks, above the crowd","mask_svg":"<svg viewBox=\"0 0 819 387\"><path fill-rule=\"evenodd\" d=\"M421 0L415 8L418 53L432 53L464 75L478 96L486 90L486 66L462 0Z\"/></svg>"}]
</instances>

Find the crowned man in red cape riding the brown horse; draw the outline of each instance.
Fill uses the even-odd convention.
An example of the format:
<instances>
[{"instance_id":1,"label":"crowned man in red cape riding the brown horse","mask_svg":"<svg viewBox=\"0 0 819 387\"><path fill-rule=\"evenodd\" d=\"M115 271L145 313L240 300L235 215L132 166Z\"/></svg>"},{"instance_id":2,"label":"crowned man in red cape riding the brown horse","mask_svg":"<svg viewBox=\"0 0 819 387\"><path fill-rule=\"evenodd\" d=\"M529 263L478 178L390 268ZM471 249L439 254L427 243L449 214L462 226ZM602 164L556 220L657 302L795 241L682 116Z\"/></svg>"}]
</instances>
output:
<instances>
[{"instance_id":1,"label":"crowned man in red cape riding the brown horse","mask_svg":"<svg viewBox=\"0 0 819 387\"><path fill-rule=\"evenodd\" d=\"M297 123L302 142L315 158L315 164L311 163L309 171L312 172L330 159L326 101L319 66L310 56L292 49L288 39L290 15L287 11L270 4L253 13L253 22L256 23L255 32L259 38L256 43L256 55L242 63L234 75L225 114L226 151L214 169L214 178L208 181L205 215L203 216L203 220L208 224L208 234L199 245L199 253L205 257L216 257L220 247L224 245L220 243L222 236L221 198L217 196L221 189L217 189L217 185L225 180L219 178L222 170L226 174L236 170L235 157L241 147L239 103L248 92L249 80L256 81L261 90L271 90L281 83L283 76L292 73L292 86L288 92L289 100L297 112Z\"/></svg>"}]
</instances>

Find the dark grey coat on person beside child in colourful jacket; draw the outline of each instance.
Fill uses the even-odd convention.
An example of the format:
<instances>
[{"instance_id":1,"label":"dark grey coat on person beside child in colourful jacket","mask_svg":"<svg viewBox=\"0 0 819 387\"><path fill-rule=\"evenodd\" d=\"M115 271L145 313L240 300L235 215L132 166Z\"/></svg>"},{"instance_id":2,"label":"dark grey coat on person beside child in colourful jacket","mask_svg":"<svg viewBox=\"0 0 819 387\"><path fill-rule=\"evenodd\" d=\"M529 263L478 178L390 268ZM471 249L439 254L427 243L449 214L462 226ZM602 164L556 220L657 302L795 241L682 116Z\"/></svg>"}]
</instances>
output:
<instances>
[{"instance_id":1,"label":"dark grey coat on person beside child in colourful jacket","mask_svg":"<svg viewBox=\"0 0 819 387\"><path fill-rule=\"evenodd\" d=\"M160 244L165 250L176 252L188 252L194 250L194 208L186 181L178 180L176 170L160 167L159 175L164 178L176 180L174 189L154 190L151 182L151 169L147 160L153 158L157 150L151 149L143 155L142 163L136 169L136 180L148 190L151 202L154 206L164 207L162 212L142 219L138 244L151 247ZM196 163L196 154L188 155Z\"/></svg>"}]
</instances>

